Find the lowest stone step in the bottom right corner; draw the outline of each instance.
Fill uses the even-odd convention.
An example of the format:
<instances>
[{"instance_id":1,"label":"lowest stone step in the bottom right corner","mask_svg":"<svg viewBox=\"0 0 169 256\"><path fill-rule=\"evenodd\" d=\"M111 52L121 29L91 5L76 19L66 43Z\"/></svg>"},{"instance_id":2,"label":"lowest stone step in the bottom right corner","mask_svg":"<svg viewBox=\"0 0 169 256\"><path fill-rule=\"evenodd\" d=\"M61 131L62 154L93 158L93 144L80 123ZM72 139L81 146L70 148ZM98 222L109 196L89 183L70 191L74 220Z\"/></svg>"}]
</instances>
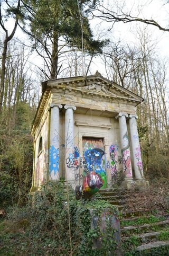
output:
<instances>
[{"instance_id":1,"label":"lowest stone step in the bottom right corner","mask_svg":"<svg viewBox=\"0 0 169 256\"><path fill-rule=\"evenodd\" d=\"M161 250L161 252L158 251L158 254L157 252L156 254L154 254L153 252L151 253L151 251L153 251L152 249L161 248L162 246L167 246L167 248L169 248L169 241L154 241L148 244L142 244L137 247L136 251L139 252L139 255L168 255L169 249L167 250L167 252ZM146 254L146 251L148 251L148 254Z\"/></svg>"}]
</instances>

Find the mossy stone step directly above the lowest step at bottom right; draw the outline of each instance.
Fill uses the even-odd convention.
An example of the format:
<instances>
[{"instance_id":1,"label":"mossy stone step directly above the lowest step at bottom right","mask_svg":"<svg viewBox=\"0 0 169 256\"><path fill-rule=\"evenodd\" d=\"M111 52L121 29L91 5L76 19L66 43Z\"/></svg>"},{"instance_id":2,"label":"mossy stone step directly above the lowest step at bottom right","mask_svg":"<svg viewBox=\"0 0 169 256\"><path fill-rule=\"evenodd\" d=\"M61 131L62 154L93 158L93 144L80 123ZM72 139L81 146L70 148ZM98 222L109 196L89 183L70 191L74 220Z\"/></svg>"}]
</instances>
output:
<instances>
[{"instance_id":1,"label":"mossy stone step directly above the lowest step at bottom right","mask_svg":"<svg viewBox=\"0 0 169 256\"><path fill-rule=\"evenodd\" d=\"M151 229L152 227L165 227L166 225L169 225L169 219L162 220L161 222L155 222L152 224L143 224L143 225L131 225L121 228L121 233L129 233L131 235L132 233L139 233L146 231L147 229Z\"/></svg>"}]
</instances>

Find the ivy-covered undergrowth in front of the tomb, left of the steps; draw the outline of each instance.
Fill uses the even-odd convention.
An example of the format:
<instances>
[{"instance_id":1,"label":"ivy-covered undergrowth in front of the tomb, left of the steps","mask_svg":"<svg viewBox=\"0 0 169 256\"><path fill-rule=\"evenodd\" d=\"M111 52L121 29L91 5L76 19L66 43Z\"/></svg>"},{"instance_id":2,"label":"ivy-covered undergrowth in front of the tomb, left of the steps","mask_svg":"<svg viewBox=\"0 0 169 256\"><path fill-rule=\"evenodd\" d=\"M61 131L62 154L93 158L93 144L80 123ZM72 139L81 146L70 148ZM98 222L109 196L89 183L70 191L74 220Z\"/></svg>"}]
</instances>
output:
<instances>
[{"instance_id":1,"label":"ivy-covered undergrowth in front of the tomb, left of the steps","mask_svg":"<svg viewBox=\"0 0 169 256\"><path fill-rule=\"evenodd\" d=\"M114 213L115 207L108 202L77 201L72 188L62 182L45 183L32 199L33 205L29 201L8 215L16 231L12 239L11 232L3 235L0 254L6 250L9 255L11 251L15 255L109 255L116 250L113 228L107 227L102 234L99 222L96 228L91 227L90 209L98 217L104 208ZM103 249L92 249L93 239L100 236Z\"/></svg>"}]
</instances>

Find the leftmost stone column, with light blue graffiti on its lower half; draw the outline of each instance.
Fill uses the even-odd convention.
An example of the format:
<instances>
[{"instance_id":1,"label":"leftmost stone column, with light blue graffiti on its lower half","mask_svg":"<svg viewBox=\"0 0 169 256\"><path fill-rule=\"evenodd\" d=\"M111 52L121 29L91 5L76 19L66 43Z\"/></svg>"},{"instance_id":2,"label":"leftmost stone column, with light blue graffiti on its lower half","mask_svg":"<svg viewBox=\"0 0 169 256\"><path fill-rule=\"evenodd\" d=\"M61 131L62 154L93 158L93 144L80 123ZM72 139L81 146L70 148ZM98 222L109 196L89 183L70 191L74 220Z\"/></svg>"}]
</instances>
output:
<instances>
[{"instance_id":1,"label":"leftmost stone column, with light blue graffiti on its lower half","mask_svg":"<svg viewBox=\"0 0 169 256\"><path fill-rule=\"evenodd\" d=\"M59 180L59 109L60 104L51 104L50 148L49 148L49 180Z\"/></svg>"}]
</instances>

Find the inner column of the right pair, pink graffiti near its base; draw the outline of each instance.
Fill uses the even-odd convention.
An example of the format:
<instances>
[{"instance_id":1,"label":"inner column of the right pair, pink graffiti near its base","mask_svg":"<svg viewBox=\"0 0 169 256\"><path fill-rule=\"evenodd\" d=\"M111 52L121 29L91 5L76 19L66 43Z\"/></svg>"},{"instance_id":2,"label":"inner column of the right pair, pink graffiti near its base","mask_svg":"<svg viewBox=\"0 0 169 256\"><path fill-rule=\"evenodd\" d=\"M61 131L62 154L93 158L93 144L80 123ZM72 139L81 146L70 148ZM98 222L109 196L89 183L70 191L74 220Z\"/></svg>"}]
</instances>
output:
<instances>
[{"instance_id":1,"label":"inner column of the right pair, pink graffiti near its base","mask_svg":"<svg viewBox=\"0 0 169 256\"><path fill-rule=\"evenodd\" d=\"M132 164L131 164L131 157L130 157L126 117L128 117L128 114L119 113L116 118L118 118L119 120L121 155L122 155L123 171L125 174L125 181L123 186L128 188L129 183L133 183L133 174L132 174Z\"/></svg>"}]
</instances>

